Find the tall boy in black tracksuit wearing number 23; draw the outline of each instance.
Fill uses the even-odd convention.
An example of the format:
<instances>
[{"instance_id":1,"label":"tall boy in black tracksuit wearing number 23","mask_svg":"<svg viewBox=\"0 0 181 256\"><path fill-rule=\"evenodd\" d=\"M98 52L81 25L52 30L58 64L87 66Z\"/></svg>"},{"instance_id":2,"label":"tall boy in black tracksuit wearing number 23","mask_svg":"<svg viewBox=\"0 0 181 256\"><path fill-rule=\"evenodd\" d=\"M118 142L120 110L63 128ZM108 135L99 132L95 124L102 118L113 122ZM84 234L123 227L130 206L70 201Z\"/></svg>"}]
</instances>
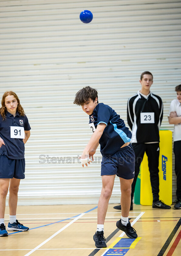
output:
<instances>
[{"instance_id":1,"label":"tall boy in black tracksuit wearing number 23","mask_svg":"<svg viewBox=\"0 0 181 256\"><path fill-rule=\"evenodd\" d=\"M131 144L135 151L135 177L131 185L131 207L144 153L148 156L150 181L152 186L152 208L170 209L159 200L159 128L163 117L162 99L150 92L153 83L152 73L145 71L141 75L142 88L128 99L127 119L132 130ZM115 206L116 209L121 206Z\"/></svg>"}]
</instances>

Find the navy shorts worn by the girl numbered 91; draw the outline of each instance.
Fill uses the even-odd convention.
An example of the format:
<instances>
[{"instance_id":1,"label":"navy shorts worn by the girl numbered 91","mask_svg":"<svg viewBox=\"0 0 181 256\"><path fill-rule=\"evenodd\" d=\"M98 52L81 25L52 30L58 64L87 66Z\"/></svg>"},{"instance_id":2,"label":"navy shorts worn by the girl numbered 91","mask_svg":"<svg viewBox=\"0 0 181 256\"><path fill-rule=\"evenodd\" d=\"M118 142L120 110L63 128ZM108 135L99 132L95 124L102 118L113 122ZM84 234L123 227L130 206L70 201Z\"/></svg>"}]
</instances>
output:
<instances>
[{"instance_id":1,"label":"navy shorts worn by the girl numbered 91","mask_svg":"<svg viewBox=\"0 0 181 256\"><path fill-rule=\"evenodd\" d=\"M0 154L0 179L24 179L25 158L11 159Z\"/></svg>"}]
</instances>

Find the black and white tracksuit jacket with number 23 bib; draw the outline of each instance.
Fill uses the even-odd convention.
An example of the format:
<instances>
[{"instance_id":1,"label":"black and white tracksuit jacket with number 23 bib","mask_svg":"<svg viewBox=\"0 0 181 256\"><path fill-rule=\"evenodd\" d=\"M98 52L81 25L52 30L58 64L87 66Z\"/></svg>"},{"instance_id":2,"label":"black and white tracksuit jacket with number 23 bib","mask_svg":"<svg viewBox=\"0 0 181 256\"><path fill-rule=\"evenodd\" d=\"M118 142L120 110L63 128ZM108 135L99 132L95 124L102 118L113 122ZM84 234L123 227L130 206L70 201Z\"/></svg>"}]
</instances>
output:
<instances>
[{"instance_id":1,"label":"black and white tracksuit jacket with number 23 bib","mask_svg":"<svg viewBox=\"0 0 181 256\"><path fill-rule=\"evenodd\" d=\"M140 92L128 99L127 120L132 130L131 143L159 142L163 118L162 99L153 93L144 98Z\"/></svg>"}]
</instances>

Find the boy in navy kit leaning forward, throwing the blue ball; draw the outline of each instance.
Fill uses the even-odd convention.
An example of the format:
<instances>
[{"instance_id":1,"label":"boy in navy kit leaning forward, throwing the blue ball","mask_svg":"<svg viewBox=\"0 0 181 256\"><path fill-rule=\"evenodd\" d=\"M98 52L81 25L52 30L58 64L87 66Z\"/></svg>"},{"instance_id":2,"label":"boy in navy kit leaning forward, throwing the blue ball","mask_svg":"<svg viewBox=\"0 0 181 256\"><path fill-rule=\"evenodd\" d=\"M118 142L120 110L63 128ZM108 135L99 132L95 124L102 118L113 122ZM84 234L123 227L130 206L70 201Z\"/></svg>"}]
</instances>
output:
<instances>
[{"instance_id":1,"label":"boy in navy kit leaning forward, throwing the blue ball","mask_svg":"<svg viewBox=\"0 0 181 256\"><path fill-rule=\"evenodd\" d=\"M108 105L98 103L97 90L89 86L77 92L74 104L81 105L89 115L89 125L93 134L81 155L82 166L90 163L90 158L101 145L102 190L97 209L97 231L93 236L95 246L107 247L104 237L104 220L109 199L117 175L121 185L121 219L116 226L130 238L137 238L134 228L128 221L131 204L131 183L135 172L135 153L131 146L131 132L120 116ZM94 159L93 159L94 160Z\"/></svg>"}]
</instances>

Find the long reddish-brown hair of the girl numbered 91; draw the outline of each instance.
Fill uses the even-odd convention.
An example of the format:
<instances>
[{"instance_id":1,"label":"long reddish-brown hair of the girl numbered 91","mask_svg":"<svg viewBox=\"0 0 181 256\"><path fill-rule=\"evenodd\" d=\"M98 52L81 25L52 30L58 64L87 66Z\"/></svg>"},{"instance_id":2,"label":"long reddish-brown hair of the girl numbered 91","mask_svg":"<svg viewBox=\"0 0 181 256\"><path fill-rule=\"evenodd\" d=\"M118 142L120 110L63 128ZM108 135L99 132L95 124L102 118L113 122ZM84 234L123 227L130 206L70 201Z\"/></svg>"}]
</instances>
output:
<instances>
[{"instance_id":1,"label":"long reddish-brown hair of the girl numbered 91","mask_svg":"<svg viewBox=\"0 0 181 256\"><path fill-rule=\"evenodd\" d=\"M13 91L7 91L3 94L2 96L2 101L1 101L1 105L2 107L0 108L0 114L3 118L3 120L6 118L6 113L7 113L7 110L6 110L6 106L5 106L5 98L8 96L8 95L13 95L15 97L15 99L18 101L18 107L16 109L16 111L18 111L18 113L20 114L20 116L24 116L25 115L25 112L19 102L19 98L18 96L15 94L15 92Z\"/></svg>"}]
</instances>

